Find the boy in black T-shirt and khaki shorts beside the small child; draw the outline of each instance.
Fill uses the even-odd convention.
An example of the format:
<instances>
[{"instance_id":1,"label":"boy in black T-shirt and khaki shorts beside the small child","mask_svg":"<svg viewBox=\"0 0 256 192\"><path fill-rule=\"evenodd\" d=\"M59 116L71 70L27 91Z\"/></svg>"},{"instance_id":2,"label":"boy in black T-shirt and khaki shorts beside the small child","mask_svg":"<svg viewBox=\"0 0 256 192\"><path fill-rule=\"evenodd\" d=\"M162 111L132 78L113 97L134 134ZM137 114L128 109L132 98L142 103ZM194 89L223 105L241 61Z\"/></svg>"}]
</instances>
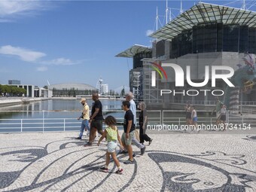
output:
<instances>
[{"instance_id":1,"label":"boy in black T-shirt and khaki shorts beside the small child","mask_svg":"<svg viewBox=\"0 0 256 192\"><path fill-rule=\"evenodd\" d=\"M129 154L129 159L126 160L124 164L131 164L134 163L132 140L135 133L135 124L133 122L133 112L130 110L130 102L124 101L122 108L126 113L124 114L123 135L121 137L121 141L123 143L123 147L127 149Z\"/></svg>"}]
</instances>

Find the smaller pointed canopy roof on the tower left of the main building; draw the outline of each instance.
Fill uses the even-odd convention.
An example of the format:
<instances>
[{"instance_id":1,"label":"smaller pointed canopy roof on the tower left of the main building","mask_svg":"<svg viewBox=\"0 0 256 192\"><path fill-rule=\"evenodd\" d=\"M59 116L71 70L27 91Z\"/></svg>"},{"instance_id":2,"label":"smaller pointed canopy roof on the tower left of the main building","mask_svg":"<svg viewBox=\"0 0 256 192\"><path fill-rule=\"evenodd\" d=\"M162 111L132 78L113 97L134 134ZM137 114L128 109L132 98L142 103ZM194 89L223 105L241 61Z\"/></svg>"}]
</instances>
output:
<instances>
[{"instance_id":1,"label":"smaller pointed canopy roof on the tower left of the main building","mask_svg":"<svg viewBox=\"0 0 256 192\"><path fill-rule=\"evenodd\" d=\"M121 53L118 53L116 56L120 57L133 57L136 53L151 53L152 48L146 47L140 44L134 44L132 47L123 50Z\"/></svg>"}]
</instances>

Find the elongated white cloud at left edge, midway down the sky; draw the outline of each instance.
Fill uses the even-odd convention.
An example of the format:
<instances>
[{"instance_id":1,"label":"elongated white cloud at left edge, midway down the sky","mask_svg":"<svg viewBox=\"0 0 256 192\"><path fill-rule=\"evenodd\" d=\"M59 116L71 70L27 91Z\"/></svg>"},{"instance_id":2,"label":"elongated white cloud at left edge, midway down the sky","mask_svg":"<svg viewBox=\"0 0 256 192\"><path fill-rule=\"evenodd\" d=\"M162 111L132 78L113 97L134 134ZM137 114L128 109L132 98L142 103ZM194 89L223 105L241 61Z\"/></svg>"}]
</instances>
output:
<instances>
[{"instance_id":1,"label":"elongated white cloud at left edge, midway down the sky","mask_svg":"<svg viewBox=\"0 0 256 192\"><path fill-rule=\"evenodd\" d=\"M45 53L38 51L27 50L22 47L12 47L11 45L5 45L0 47L0 53L5 55L19 56L23 61L34 62L37 59L46 56Z\"/></svg>"}]
</instances>

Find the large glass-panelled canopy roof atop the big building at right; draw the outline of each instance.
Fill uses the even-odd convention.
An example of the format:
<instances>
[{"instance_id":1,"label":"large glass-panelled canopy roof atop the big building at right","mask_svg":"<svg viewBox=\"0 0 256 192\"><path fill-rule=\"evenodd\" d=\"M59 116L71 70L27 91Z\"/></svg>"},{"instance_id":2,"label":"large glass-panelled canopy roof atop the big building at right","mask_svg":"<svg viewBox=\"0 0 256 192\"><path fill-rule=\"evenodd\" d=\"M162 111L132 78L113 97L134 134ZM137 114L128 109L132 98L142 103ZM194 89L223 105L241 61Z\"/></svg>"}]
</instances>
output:
<instances>
[{"instance_id":1,"label":"large glass-panelled canopy roof atop the big building at right","mask_svg":"<svg viewBox=\"0 0 256 192\"><path fill-rule=\"evenodd\" d=\"M240 24L256 27L256 12L221 5L199 3L180 14L150 36L172 41L182 31L192 29L198 23Z\"/></svg>"}]
</instances>

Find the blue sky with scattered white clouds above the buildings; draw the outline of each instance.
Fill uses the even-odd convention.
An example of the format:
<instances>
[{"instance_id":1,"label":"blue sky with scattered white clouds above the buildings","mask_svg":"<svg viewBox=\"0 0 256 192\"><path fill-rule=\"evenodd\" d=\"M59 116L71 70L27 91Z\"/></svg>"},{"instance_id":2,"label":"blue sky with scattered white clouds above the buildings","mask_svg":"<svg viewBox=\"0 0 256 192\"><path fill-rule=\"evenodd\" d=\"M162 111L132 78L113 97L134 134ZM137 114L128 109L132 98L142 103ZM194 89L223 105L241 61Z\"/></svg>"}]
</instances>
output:
<instances>
[{"instance_id":1,"label":"blue sky with scattered white clouds above the buildings","mask_svg":"<svg viewBox=\"0 0 256 192\"><path fill-rule=\"evenodd\" d=\"M183 1L187 10L198 1ZM241 8L242 0L203 1ZM180 1L168 1L176 17ZM256 10L256 1L246 1ZM20 80L40 87L78 83L129 86L133 59L115 57L133 44L151 47L165 23L165 1L0 0L0 84Z\"/></svg>"}]
</instances>

